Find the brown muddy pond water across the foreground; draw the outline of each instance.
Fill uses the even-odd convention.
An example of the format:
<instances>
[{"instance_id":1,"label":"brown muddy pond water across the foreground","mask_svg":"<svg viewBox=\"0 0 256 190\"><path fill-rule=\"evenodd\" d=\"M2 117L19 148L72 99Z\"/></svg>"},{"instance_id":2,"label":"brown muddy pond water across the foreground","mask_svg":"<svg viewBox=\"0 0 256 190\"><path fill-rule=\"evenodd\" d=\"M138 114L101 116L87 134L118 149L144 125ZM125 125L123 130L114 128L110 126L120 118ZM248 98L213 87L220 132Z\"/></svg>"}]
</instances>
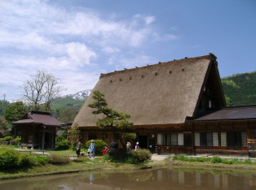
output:
<instances>
[{"instance_id":1,"label":"brown muddy pond water across the foreground","mask_svg":"<svg viewBox=\"0 0 256 190\"><path fill-rule=\"evenodd\" d=\"M97 171L0 181L0 189L256 189L256 175L231 171Z\"/></svg>"}]
</instances>

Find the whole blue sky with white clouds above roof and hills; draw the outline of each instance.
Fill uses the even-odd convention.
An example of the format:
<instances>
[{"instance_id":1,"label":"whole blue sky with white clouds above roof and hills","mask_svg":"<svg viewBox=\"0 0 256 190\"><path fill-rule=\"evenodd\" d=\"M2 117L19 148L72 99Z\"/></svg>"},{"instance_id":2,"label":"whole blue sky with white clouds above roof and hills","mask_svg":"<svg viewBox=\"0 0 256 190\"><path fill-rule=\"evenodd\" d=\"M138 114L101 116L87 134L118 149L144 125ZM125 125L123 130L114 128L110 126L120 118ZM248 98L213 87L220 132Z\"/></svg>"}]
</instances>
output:
<instances>
[{"instance_id":1,"label":"whole blue sky with white clouds above roof and hills","mask_svg":"<svg viewBox=\"0 0 256 190\"><path fill-rule=\"evenodd\" d=\"M67 88L100 73L214 53L220 76L256 71L254 0L0 0L0 99L49 71Z\"/></svg>"}]
</instances>

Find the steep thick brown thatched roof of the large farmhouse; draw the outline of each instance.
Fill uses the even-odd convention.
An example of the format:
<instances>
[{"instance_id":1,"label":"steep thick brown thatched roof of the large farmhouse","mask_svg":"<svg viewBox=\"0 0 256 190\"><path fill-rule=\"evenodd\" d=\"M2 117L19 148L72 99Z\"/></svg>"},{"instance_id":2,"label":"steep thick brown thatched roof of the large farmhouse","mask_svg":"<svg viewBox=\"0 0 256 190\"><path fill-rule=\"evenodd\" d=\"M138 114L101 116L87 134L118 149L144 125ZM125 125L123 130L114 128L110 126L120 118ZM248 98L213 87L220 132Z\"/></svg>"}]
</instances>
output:
<instances>
[{"instance_id":1,"label":"steep thick brown thatched roof of the large farmhouse","mask_svg":"<svg viewBox=\"0 0 256 190\"><path fill-rule=\"evenodd\" d=\"M102 74L93 91L104 93L113 110L130 114L135 126L184 123L195 114L215 59L210 54ZM93 101L91 93L74 120L79 127L93 127L104 116L91 113Z\"/></svg>"}]
</instances>

